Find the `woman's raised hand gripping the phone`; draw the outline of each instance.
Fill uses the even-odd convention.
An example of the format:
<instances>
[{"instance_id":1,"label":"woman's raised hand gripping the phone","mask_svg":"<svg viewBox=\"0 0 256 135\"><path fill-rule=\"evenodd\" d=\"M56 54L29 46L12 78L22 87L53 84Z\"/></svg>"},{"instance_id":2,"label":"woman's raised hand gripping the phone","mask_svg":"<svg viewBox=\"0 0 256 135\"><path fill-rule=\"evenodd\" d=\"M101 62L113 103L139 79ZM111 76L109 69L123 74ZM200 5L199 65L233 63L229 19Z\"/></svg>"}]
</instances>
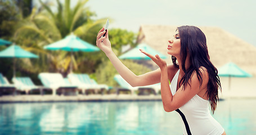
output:
<instances>
[{"instance_id":1,"label":"woman's raised hand gripping the phone","mask_svg":"<svg viewBox=\"0 0 256 135\"><path fill-rule=\"evenodd\" d=\"M103 37L102 35L104 34L105 36ZM104 28L102 28L100 31L98 31L96 45L103 52L105 52L106 55L112 52L111 43L109 41L109 30L104 30Z\"/></svg>"}]
</instances>

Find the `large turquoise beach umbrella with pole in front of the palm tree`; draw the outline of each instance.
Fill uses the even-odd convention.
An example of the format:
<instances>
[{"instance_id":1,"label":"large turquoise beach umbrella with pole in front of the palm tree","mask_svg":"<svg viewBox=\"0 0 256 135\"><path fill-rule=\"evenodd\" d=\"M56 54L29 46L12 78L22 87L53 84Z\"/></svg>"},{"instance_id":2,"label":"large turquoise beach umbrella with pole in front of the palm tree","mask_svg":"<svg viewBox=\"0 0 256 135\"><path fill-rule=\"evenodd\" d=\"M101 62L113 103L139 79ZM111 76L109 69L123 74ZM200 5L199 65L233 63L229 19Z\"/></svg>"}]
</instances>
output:
<instances>
[{"instance_id":1,"label":"large turquoise beach umbrella with pole in front of the palm tree","mask_svg":"<svg viewBox=\"0 0 256 135\"><path fill-rule=\"evenodd\" d=\"M100 51L100 49L80 39L79 37L75 36L73 33L71 33L71 35L66 36L64 39L61 39L55 43L49 44L48 46L44 46L44 49L69 51L71 57L73 56L73 52L77 52L77 51L83 51L83 52ZM72 73L72 59L70 62L70 73Z\"/></svg>"}]
</instances>

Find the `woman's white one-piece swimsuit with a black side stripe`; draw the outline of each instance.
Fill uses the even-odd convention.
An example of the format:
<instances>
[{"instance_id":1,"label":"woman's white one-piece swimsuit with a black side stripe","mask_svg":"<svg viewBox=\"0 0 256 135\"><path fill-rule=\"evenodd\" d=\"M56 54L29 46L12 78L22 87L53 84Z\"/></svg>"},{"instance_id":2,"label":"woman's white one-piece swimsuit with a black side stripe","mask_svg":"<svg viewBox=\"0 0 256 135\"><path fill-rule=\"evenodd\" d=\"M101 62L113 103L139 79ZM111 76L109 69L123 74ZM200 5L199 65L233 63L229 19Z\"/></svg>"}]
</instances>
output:
<instances>
[{"instance_id":1,"label":"woman's white one-piece swimsuit with a black side stripe","mask_svg":"<svg viewBox=\"0 0 256 135\"><path fill-rule=\"evenodd\" d=\"M172 95L176 93L179 70L170 83ZM221 135L222 126L213 118L209 111L209 101L195 95L185 105L176 110L181 115L183 134Z\"/></svg>"}]
</instances>

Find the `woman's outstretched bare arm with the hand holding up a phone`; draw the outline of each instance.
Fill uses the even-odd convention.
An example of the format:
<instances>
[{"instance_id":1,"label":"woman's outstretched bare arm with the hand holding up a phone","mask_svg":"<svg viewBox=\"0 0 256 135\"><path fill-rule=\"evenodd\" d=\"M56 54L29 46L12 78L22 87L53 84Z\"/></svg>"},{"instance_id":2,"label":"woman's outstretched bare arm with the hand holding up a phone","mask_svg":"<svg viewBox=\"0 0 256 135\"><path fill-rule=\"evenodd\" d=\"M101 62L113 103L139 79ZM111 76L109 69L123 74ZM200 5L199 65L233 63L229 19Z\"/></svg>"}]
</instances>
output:
<instances>
[{"instance_id":1,"label":"woman's outstretched bare arm with the hand holding up a phone","mask_svg":"<svg viewBox=\"0 0 256 135\"><path fill-rule=\"evenodd\" d=\"M105 37L101 37L104 33L106 33ZM102 28L98 32L96 44L97 47L106 54L106 56L109 58L109 60L114 65L115 69L118 71L121 77L124 78L131 86L147 86L160 82L160 69L142 75L136 75L131 70L129 70L113 52L109 40L108 30L105 31L104 28Z\"/></svg>"}]
</instances>

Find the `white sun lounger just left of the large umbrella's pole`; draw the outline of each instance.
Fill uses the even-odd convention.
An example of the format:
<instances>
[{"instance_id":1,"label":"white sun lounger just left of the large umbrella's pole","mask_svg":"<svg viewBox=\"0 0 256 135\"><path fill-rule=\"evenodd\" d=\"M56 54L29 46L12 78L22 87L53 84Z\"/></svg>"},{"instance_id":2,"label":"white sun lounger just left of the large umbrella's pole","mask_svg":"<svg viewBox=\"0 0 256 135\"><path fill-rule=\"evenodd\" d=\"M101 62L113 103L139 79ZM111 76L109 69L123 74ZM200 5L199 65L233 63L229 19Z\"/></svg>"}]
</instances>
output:
<instances>
[{"instance_id":1,"label":"white sun lounger just left of the large umbrella's pole","mask_svg":"<svg viewBox=\"0 0 256 135\"><path fill-rule=\"evenodd\" d=\"M64 94L65 91L77 90L77 86L65 83L64 78L59 73L40 73L38 78L41 80L44 87L52 89L53 96L55 96L57 92Z\"/></svg>"}]
</instances>

